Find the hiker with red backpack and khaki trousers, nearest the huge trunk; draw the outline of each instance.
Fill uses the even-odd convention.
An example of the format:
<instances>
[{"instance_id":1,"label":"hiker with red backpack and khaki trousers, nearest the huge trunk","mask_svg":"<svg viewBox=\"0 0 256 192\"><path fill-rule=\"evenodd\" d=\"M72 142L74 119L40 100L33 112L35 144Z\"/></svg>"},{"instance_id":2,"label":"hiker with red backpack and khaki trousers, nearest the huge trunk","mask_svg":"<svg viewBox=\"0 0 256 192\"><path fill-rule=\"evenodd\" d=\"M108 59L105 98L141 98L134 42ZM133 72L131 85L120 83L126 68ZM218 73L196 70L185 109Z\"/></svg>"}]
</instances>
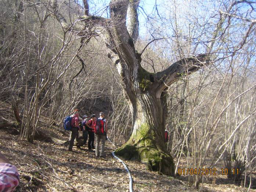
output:
<instances>
[{"instance_id":1,"label":"hiker with red backpack and khaki trousers, nearest the huge trunk","mask_svg":"<svg viewBox=\"0 0 256 192\"><path fill-rule=\"evenodd\" d=\"M100 112L100 117L97 118L95 123L95 135L96 135L96 148L95 155L96 157L105 157L105 142L107 138L107 121L104 118L104 113ZM99 145L101 141L100 153Z\"/></svg>"}]
</instances>

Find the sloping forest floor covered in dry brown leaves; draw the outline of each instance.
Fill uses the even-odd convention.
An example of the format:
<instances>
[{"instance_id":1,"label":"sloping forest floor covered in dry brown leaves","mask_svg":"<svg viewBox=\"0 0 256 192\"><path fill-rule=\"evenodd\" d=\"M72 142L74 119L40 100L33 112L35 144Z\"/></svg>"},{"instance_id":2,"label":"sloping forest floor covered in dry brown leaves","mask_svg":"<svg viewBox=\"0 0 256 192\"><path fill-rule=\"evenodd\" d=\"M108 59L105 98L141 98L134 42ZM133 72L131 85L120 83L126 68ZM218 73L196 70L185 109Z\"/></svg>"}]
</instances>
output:
<instances>
[{"instance_id":1,"label":"sloping forest floor covered in dry brown leaves","mask_svg":"<svg viewBox=\"0 0 256 192\"><path fill-rule=\"evenodd\" d=\"M5 110L8 111L6 108ZM9 109L10 110L10 109ZM1 113L3 114L3 113ZM14 120L14 116L8 117ZM46 122L46 121L45 121ZM69 135L63 134L57 126L47 127L42 121L39 128L45 135L51 135L60 140L68 140ZM80 135L81 132L79 133ZM106 142L105 158L96 158L89 152L87 146L73 147L75 153L69 152L67 146L50 142L34 140L28 143L20 138L13 128L0 129L0 152L5 155L21 175L16 192L128 192L129 176L122 163L112 157L111 152L116 147ZM174 159L175 161L175 159ZM240 184L233 184L222 176L220 163L216 176L207 176L200 187L188 185L188 176L170 177L146 170L144 165L136 161L124 161L133 177L134 192L237 192L247 191ZM187 169L181 161L180 168ZM254 172L254 181L256 173ZM252 182L256 192L256 182Z\"/></svg>"}]
</instances>

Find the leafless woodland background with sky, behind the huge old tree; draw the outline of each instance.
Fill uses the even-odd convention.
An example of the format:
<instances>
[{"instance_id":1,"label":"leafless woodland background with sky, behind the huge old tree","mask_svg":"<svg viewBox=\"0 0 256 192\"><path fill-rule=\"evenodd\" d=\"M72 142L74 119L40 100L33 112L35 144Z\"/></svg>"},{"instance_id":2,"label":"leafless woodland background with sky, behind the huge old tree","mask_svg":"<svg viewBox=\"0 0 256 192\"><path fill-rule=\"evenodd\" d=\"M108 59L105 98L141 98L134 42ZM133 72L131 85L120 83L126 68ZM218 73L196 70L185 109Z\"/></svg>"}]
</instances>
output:
<instances>
[{"instance_id":1,"label":"leafless woodland background with sky, behind the huge old tree","mask_svg":"<svg viewBox=\"0 0 256 192\"><path fill-rule=\"evenodd\" d=\"M88 2L89 15L109 18L109 2L100 1L101 7ZM62 129L63 118L75 108L108 112L109 138L118 146L129 139L131 111L118 67L109 58L108 29L82 23L88 16L85 5L0 1L0 102L17 112L16 119L1 121L18 126L30 142L43 116L48 126ZM153 10L144 7L141 1L138 12L145 22L135 44L144 69L156 74L187 57L210 58L199 71L179 74L164 91L167 149L175 172L184 158L188 167L210 168L224 160L228 169L239 169L228 174L234 181L242 174L251 177L256 169L256 3L159 0ZM193 176L195 186L201 178Z\"/></svg>"}]
</instances>

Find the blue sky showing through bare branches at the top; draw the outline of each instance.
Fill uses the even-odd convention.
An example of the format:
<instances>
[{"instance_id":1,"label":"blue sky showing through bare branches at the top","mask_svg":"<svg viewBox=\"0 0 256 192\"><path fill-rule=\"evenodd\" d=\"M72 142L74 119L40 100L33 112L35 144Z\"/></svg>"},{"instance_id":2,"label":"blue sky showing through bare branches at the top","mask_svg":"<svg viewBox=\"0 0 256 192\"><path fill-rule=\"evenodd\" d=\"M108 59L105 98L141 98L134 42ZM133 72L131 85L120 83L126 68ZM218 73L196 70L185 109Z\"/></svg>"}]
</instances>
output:
<instances>
[{"instance_id":1,"label":"blue sky showing through bare branches at the top","mask_svg":"<svg viewBox=\"0 0 256 192\"><path fill-rule=\"evenodd\" d=\"M89 0L90 14L109 17L107 9L109 2L110 0ZM151 45L152 49L161 47L162 56L169 58L177 54L170 55L170 52L173 52L177 47L174 42L177 40L174 33L176 31L180 43L184 43L184 48L187 42L192 39L191 45L193 46L199 42L194 53L205 53L207 44L205 42L212 38L212 32L219 20L220 7L218 5L221 4L223 4L222 0L141 0L138 10L139 37L141 41L145 41L145 44L154 38L169 37ZM155 5L157 5L158 12ZM250 8L246 4L241 4L241 6L244 7L240 8L240 13L246 12ZM224 8L221 7L221 9ZM255 11L252 12L254 16L255 13ZM175 16L177 20L174 20ZM232 25L234 26L231 28L233 31L230 32L233 32L233 36L230 38L234 43L239 42L241 34L245 33L249 24L232 18ZM218 49L219 45L216 44L215 46Z\"/></svg>"}]
</instances>

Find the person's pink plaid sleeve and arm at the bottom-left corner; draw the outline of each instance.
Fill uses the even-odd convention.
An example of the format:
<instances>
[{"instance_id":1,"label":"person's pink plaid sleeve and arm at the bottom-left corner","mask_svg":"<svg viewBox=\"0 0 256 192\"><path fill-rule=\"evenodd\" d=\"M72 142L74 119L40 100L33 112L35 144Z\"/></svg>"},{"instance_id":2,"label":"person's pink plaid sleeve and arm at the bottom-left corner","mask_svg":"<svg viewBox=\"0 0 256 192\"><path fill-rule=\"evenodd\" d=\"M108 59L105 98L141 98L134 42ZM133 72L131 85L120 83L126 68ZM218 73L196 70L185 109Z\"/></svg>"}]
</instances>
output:
<instances>
[{"instance_id":1,"label":"person's pink plaid sleeve and arm at the bottom-left corner","mask_svg":"<svg viewBox=\"0 0 256 192\"><path fill-rule=\"evenodd\" d=\"M0 153L0 192L12 192L19 184L17 167Z\"/></svg>"}]
</instances>

